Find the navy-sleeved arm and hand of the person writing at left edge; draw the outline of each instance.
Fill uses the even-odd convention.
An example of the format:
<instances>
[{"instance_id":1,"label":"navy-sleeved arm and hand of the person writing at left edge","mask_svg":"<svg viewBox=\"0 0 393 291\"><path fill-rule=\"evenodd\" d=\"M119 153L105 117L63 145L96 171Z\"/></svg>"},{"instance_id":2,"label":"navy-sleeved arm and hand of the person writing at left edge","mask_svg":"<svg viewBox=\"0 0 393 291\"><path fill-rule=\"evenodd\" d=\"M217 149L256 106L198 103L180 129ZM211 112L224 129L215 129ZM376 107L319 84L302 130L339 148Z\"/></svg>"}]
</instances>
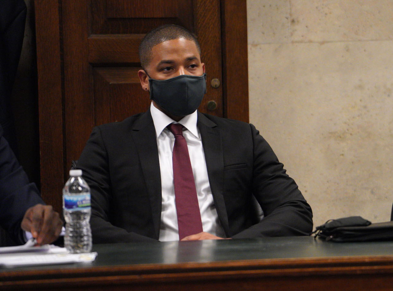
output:
<instances>
[{"instance_id":1,"label":"navy-sleeved arm and hand of the person writing at left edge","mask_svg":"<svg viewBox=\"0 0 393 291\"><path fill-rule=\"evenodd\" d=\"M26 242L25 232L38 245L51 243L61 232L63 222L50 205L45 205L34 183L19 165L0 126L0 224L15 242ZM22 231L23 230L23 231Z\"/></svg>"}]
</instances>

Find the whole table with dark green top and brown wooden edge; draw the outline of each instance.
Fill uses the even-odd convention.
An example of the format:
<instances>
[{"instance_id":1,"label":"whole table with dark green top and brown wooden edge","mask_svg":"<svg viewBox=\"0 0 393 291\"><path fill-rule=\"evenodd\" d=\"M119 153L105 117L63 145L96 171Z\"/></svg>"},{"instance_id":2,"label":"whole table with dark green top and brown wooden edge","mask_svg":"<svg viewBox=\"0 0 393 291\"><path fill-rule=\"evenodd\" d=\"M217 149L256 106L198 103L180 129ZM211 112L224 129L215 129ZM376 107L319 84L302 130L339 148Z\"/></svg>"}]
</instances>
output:
<instances>
[{"instance_id":1,"label":"whole table with dark green top and brown wooden edge","mask_svg":"<svg viewBox=\"0 0 393 291\"><path fill-rule=\"evenodd\" d=\"M310 236L94 245L89 264L0 269L1 290L392 290L393 242Z\"/></svg>"}]
</instances>

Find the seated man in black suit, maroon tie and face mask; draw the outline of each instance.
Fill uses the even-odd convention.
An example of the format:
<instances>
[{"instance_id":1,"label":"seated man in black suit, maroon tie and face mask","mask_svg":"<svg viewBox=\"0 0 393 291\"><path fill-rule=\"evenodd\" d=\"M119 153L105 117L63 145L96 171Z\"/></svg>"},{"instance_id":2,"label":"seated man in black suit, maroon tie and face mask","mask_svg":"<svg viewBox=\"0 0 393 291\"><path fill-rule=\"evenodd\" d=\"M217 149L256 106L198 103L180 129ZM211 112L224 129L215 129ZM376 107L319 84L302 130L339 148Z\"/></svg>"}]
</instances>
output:
<instances>
[{"instance_id":1,"label":"seated man in black suit, maroon tie and face mask","mask_svg":"<svg viewBox=\"0 0 393 291\"><path fill-rule=\"evenodd\" d=\"M195 36L158 27L142 40L140 59L150 110L95 127L78 161L91 187L93 243L309 235L311 208L255 127L196 110L206 81ZM182 174L174 170L176 123L200 212L200 231L185 237L174 182ZM253 197L264 213L260 221Z\"/></svg>"}]
</instances>

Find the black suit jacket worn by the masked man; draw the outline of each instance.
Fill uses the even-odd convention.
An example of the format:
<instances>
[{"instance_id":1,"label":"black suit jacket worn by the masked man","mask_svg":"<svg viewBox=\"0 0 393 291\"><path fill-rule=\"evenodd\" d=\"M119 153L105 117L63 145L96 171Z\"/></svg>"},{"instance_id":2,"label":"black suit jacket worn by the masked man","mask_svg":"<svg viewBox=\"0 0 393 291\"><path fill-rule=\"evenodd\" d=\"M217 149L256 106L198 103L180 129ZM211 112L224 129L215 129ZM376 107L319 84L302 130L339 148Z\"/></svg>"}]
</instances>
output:
<instances>
[{"instance_id":1,"label":"black suit jacket worn by the masked man","mask_svg":"<svg viewBox=\"0 0 393 291\"><path fill-rule=\"evenodd\" d=\"M310 234L310 206L252 124L198 112L198 128L227 237ZM91 187L94 243L158 239L161 178L150 111L95 127L78 168ZM259 223L252 195L264 212Z\"/></svg>"}]
</instances>

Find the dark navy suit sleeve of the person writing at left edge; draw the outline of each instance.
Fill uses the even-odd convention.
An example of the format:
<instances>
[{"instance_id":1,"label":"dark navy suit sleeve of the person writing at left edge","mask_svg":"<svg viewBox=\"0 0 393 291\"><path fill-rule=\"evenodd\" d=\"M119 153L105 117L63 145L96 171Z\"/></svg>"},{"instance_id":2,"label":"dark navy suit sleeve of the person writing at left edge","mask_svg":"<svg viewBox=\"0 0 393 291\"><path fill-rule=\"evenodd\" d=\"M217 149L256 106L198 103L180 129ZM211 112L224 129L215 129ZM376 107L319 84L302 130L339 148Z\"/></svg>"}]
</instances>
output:
<instances>
[{"instance_id":1,"label":"dark navy suit sleeve of the person writing at left edge","mask_svg":"<svg viewBox=\"0 0 393 291\"><path fill-rule=\"evenodd\" d=\"M30 207L45 204L39 191L19 165L0 126L0 223L20 244L24 243L20 223Z\"/></svg>"}]
</instances>

